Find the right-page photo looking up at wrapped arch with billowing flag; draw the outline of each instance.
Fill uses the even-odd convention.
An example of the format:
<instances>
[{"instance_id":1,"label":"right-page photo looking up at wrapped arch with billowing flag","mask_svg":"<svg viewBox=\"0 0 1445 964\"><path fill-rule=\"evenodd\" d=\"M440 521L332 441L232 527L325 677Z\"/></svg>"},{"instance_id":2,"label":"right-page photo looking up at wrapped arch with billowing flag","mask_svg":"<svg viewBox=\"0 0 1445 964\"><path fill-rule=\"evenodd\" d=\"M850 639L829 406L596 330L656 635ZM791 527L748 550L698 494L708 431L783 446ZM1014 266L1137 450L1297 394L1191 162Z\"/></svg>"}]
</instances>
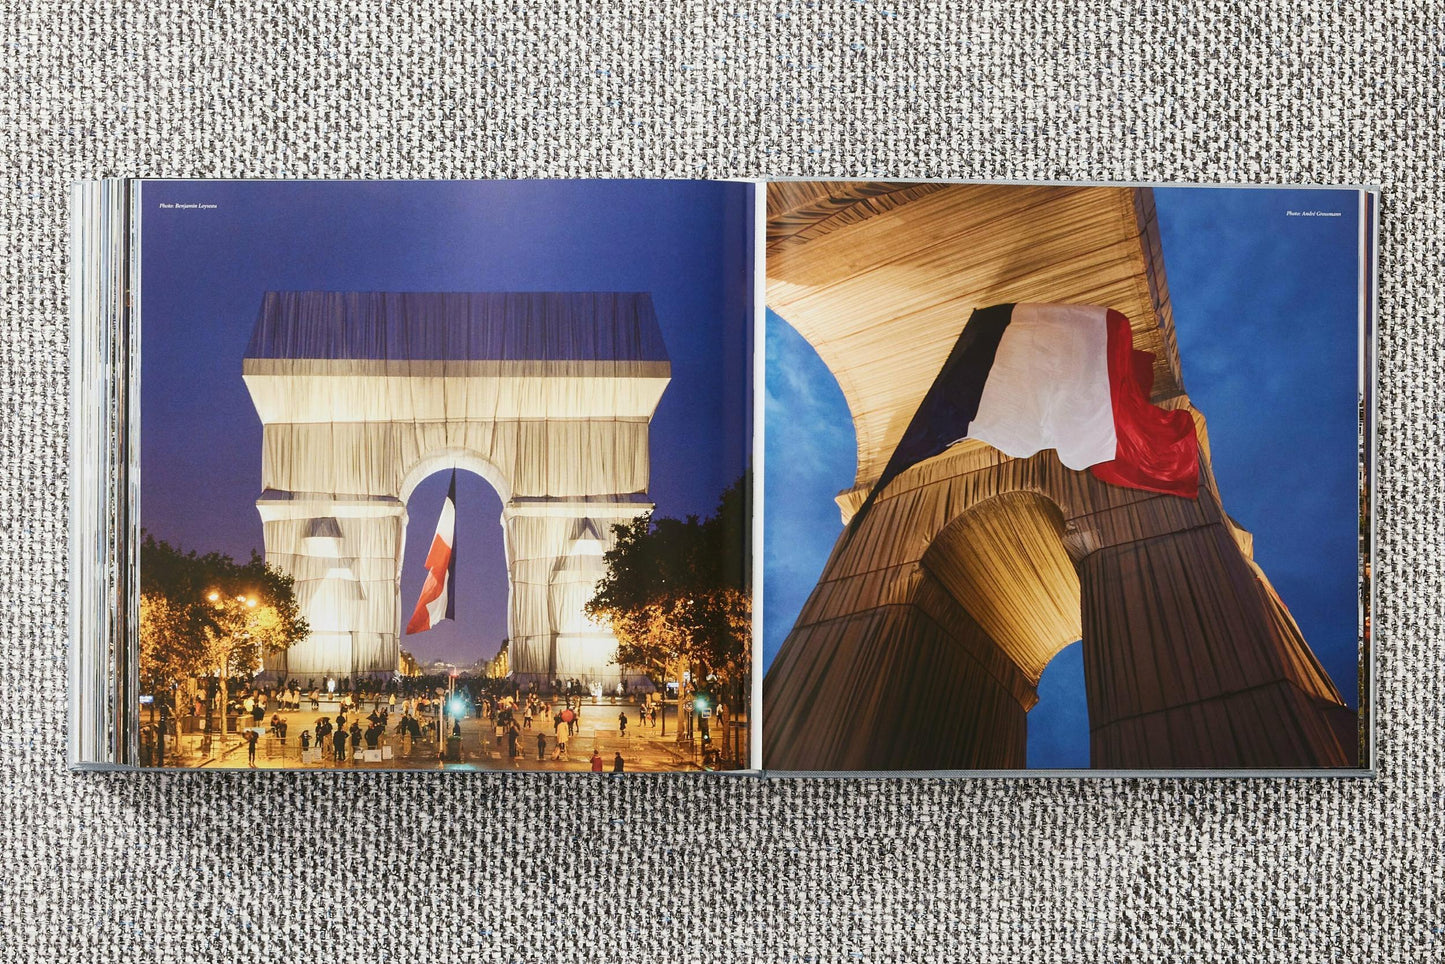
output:
<instances>
[{"instance_id":1,"label":"right-page photo looking up at wrapped arch with billowing flag","mask_svg":"<svg viewBox=\"0 0 1445 964\"><path fill-rule=\"evenodd\" d=\"M763 767L1368 773L1376 211L769 184Z\"/></svg>"}]
</instances>

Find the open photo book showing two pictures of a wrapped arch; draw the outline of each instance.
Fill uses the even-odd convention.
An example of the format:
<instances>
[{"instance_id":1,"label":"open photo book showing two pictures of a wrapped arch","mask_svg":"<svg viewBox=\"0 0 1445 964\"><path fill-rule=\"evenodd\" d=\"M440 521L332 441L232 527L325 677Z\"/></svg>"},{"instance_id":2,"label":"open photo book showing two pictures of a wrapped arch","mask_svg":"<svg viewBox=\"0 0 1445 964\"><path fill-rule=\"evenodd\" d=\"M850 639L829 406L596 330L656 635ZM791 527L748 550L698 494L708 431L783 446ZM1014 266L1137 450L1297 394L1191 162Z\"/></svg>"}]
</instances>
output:
<instances>
[{"instance_id":1,"label":"open photo book showing two pictures of a wrapped arch","mask_svg":"<svg viewBox=\"0 0 1445 964\"><path fill-rule=\"evenodd\" d=\"M1373 189L71 217L74 766L1371 772Z\"/></svg>"}]
</instances>

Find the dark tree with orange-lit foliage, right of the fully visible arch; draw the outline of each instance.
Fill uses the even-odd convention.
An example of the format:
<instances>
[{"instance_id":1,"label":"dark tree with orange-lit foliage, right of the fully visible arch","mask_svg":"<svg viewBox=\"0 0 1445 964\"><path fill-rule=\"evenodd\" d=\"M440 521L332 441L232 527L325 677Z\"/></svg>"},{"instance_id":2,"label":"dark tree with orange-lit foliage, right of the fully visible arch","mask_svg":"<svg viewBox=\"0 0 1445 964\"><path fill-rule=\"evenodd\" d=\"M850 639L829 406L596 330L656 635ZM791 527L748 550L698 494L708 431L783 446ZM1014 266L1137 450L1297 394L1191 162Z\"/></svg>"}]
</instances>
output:
<instances>
[{"instance_id":1,"label":"dark tree with orange-lit foliage, right of the fully visible arch","mask_svg":"<svg viewBox=\"0 0 1445 964\"><path fill-rule=\"evenodd\" d=\"M655 685L683 678L718 694L747 691L751 673L753 595L747 539L750 475L699 522L639 516L613 526L607 572L587 614L617 636L614 662L640 669ZM736 701L736 695L731 697Z\"/></svg>"}]
</instances>

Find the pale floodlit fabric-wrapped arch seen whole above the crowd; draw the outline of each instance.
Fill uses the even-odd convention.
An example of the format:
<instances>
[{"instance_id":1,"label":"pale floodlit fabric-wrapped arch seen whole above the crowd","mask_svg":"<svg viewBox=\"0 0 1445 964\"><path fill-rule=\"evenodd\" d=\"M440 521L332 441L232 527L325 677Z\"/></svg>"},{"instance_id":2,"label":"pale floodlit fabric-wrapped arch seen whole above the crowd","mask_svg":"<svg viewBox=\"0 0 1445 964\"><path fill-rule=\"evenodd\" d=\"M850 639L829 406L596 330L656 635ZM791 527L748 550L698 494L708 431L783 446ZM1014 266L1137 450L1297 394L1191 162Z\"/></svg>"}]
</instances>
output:
<instances>
[{"instance_id":1,"label":"pale floodlit fabric-wrapped arch seen whole above the crowd","mask_svg":"<svg viewBox=\"0 0 1445 964\"><path fill-rule=\"evenodd\" d=\"M406 503L461 468L501 497L519 684L624 678L582 604L611 526L652 509L647 435L670 364L649 295L267 292L243 366L266 561L295 578L311 626L273 676L397 671Z\"/></svg>"}]
</instances>

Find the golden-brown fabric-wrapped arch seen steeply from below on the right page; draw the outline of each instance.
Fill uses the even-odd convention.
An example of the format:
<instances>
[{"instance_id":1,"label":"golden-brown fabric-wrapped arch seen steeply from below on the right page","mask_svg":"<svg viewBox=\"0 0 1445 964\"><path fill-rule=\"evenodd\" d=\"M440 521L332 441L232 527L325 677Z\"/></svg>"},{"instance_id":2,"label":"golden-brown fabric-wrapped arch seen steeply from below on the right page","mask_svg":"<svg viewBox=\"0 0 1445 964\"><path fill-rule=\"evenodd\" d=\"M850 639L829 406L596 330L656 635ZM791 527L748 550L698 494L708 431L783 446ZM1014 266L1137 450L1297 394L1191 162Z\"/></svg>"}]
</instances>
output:
<instances>
[{"instance_id":1,"label":"golden-brown fabric-wrapped arch seen steeply from below on the right page","mask_svg":"<svg viewBox=\"0 0 1445 964\"><path fill-rule=\"evenodd\" d=\"M873 491L970 311L1012 302L1129 317L1150 400L1194 416L1198 500L974 439ZM853 413L844 522L873 496L769 668L769 769L1020 767L1043 668L1079 639L1095 767L1357 763L1355 713L1224 510L1150 189L775 182L767 304Z\"/></svg>"}]
</instances>

